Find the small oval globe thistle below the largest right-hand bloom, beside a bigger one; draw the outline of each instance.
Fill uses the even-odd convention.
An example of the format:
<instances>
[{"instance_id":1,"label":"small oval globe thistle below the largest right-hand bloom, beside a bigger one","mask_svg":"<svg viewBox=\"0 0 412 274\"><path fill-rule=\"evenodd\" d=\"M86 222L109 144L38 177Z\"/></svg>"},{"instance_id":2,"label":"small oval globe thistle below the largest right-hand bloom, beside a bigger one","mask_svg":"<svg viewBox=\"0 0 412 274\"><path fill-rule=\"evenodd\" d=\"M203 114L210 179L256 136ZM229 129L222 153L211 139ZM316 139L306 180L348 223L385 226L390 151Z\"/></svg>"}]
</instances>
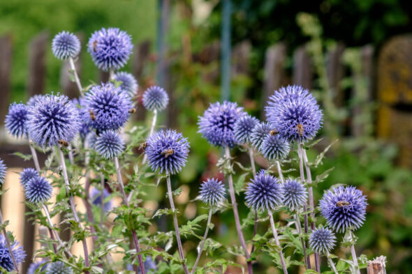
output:
<instances>
[{"instance_id":1,"label":"small oval globe thistle below the largest right-hand bloom, beside a bigger one","mask_svg":"<svg viewBox=\"0 0 412 274\"><path fill-rule=\"evenodd\" d=\"M297 211L307 202L307 190L304 185L295 179L288 178L282 185L284 193L283 204L290 211Z\"/></svg>"}]
</instances>

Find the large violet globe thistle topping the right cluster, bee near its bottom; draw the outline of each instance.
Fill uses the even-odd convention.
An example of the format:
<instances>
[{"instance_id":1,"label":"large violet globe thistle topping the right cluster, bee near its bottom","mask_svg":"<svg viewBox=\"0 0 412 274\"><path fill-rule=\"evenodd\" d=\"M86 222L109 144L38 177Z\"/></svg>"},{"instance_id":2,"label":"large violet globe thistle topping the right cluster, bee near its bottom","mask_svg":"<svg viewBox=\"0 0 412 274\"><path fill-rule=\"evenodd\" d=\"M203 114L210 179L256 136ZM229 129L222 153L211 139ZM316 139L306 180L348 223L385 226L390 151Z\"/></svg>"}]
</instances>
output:
<instances>
[{"instance_id":1,"label":"large violet globe thistle topping the right cluster, bee near its bottom","mask_svg":"<svg viewBox=\"0 0 412 274\"><path fill-rule=\"evenodd\" d=\"M288 142L313 139L323 123L316 99L301 86L287 86L275 92L268 104L267 121Z\"/></svg>"}]
</instances>

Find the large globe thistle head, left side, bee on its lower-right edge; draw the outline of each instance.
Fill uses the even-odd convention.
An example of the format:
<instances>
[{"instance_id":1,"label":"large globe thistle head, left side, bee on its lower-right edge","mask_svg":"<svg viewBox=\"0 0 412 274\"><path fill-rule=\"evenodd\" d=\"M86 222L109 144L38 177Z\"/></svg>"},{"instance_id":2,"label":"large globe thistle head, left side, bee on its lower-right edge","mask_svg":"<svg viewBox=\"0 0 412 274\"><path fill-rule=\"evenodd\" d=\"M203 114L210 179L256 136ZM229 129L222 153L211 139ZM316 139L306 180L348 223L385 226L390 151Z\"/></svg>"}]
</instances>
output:
<instances>
[{"instance_id":1,"label":"large globe thistle head, left side, bee on its lower-right edge","mask_svg":"<svg viewBox=\"0 0 412 274\"><path fill-rule=\"evenodd\" d=\"M47 95L29 108L27 131L39 146L70 142L80 130L79 109L67 96Z\"/></svg>"}]
</instances>

